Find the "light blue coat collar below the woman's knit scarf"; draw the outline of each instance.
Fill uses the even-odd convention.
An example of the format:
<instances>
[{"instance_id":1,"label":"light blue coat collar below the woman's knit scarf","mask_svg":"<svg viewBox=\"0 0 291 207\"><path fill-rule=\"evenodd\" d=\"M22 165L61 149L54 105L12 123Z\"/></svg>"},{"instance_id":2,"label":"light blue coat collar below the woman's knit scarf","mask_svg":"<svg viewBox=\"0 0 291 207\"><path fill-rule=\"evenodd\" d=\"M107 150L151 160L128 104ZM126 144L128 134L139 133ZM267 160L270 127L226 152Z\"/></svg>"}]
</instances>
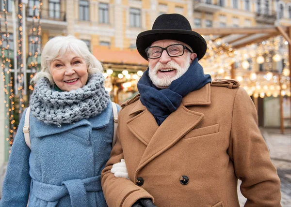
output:
<instances>
[{"instance_id":1,"label":"light blue coat collar below the woman's knit scarf","mask_svg":"<svg viewBox=\"0 0 291 207\"><path fill-rule=\"evenodd\" d=\"M107 104L104 111L92 118L82 119L76 123L62 124L62 127L58 127L55 124L45 124L43 121L37 120L32 116L30 118L30 132L37 138L49 136L57 133L72 130L77 127L90 127L93 129L99 129L109 124L110 118L112 118L112 103Z\"/></svg>"}]
</instances>

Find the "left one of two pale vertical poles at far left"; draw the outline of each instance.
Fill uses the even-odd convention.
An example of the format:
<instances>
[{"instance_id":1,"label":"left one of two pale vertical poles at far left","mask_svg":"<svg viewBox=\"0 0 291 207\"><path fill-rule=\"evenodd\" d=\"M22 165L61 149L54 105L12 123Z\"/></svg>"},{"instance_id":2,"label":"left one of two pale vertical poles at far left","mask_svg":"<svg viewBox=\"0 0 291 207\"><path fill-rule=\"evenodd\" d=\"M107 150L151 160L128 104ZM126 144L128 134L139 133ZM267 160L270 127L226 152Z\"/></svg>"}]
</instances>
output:
<instances>
[{"instance_id":1,"label":"left one of two pale vertical poles at far left","mask_svg":"<svg viewBox=\"0 0 291 207\"><path fill-rule=\"evenodd\" d=\"M17 95L17 43L16 43L16 18L15 0L12 1L12 20L13 20L13 55L14 55L14 93Z\"/></svg>"}]
</instances>

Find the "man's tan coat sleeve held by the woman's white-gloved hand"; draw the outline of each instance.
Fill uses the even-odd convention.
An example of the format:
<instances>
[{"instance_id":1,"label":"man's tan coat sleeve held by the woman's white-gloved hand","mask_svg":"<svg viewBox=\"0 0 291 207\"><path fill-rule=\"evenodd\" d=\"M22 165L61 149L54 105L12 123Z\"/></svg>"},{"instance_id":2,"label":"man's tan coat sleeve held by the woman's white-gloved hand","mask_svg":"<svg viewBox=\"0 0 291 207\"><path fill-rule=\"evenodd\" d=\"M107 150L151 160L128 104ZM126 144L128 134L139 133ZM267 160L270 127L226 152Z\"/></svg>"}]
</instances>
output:
<instances>
[{"instance_id":1,"label":"man's tan coat sleeve held by the woman's white-gloved hand","mask_svg":"<svg viewBox=\"0 0 291 207\"><path fill-rule=\"evenodd\" d=\"M101 185L108 207L131 207L140 198L151 198L154 201L146 190L135 185L127 178L114 177L114 174L110 171L114 163L118 163L124 158L119 139L119 123L122 121L120 118L122 118L122 110L118 114L116 144L112 149L109 161L101 173Z\"/></svg>"}]
</instances>

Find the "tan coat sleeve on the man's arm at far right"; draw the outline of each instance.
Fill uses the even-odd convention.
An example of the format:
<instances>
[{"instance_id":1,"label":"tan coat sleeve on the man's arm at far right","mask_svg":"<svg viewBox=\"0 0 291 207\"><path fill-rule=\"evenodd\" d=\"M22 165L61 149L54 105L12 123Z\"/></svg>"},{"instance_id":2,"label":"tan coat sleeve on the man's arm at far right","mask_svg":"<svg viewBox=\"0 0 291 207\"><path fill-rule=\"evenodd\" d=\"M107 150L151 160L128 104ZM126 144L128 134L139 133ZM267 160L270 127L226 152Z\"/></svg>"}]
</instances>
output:
<instances>
[{"instance_id":1,"label":"tan coat sleeve on the man's arm at far right","mask_svg":"<svg viewBox=\"0 0 291 207\"><path fill-rule=\"evenodd\" d=\"M242 180L245 207L280 207L280 179L259 131L255 105L242 88L235 96L230 135L228 153Z\"/></svg>"}]
</instances>

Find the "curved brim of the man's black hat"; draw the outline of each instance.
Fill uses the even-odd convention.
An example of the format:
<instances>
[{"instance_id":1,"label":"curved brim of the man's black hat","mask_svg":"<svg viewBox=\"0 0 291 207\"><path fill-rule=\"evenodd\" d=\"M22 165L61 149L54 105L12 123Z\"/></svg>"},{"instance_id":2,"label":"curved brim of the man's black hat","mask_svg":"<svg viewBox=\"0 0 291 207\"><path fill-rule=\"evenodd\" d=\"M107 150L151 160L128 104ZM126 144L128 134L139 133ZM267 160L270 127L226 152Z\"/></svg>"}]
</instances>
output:
<instances>
[{"instance_id":1,"label":"curved brim of the man's black hat","mask_svg":"<svg viewBox=\"0 0 291 207\"><path fill-rule=\"evenodd\" d=\"M158 40L177 40L188 44L197 58L201 59L206 53L207 44L204 38L195 31L190 30L147 30L141 32L136 38L136 47L139 54L147 60L146 48Z\"/></svg>"}]
</instances>

